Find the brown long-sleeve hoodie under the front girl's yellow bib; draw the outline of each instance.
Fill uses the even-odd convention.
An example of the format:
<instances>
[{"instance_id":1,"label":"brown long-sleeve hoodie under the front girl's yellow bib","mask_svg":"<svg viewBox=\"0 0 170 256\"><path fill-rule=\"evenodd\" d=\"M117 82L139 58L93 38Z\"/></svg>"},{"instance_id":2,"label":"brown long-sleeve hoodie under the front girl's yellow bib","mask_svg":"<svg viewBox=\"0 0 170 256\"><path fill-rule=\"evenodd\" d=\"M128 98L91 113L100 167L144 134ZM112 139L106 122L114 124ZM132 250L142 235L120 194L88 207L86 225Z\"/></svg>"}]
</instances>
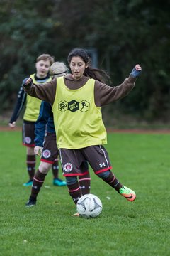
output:
<instances>
[{"instance_id":1,"label":"brown long-sleeve hoodie under the front girl's yellow bib","mask_svg":"<svg viewBox=\"0 0 170 256\"><path fill-rule=\"evenodd\" d=\"M65 85L71 90L79 89L80 87L84 86L87 80L89 80L89 78L84 75L79 80L75 80L70 74L64 77ZM94 85L94 100L96 106L102 107L103 105L107 105L125 97L135 86L135 81L136 78L129 76L129 78L126 78L122 84L111 87L96 80ZM24 90L26 90L28 95L50 102L51 105L53 105L55 100L56 89L56 78L50 82L44 83L43 85L33 84L30 87L24 87Z\"/></svg>"}]
</instances>

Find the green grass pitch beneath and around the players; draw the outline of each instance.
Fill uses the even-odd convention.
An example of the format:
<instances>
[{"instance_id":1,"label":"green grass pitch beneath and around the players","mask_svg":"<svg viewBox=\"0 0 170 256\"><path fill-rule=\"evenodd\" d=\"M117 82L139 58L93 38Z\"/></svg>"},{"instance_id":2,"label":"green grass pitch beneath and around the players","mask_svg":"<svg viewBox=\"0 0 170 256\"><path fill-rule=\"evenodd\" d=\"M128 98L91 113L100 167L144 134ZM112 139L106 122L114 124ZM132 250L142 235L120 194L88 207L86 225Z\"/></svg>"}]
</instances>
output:
<instances>
[{"instance_id":1,"label":"green grass pitch beneath and around the players","mask_svg":"<svg viewBox=\"0 0 170 256\"><path fill-rule=\"evenodd\" d=\"M66 187L52 186L51 171L37 206L26 208L21 132L0 132L0 142L0 255L170 255L170 134L108 134L113 171L137 199L126 201L91 170L91 193L103 203L94 219L71 217L74 203Z\"/></svg>"}]
</instances>

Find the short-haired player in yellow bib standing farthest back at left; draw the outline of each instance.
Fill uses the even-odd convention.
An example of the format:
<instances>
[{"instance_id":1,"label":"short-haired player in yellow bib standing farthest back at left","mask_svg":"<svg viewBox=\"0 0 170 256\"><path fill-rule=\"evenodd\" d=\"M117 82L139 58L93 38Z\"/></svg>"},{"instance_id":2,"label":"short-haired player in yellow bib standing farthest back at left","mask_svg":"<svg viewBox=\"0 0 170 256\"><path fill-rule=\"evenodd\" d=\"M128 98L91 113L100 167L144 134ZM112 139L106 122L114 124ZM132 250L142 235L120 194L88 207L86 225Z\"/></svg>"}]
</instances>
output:
<instances>
[{"instance_id":1,"label":"short-haired player in yellow bib standing farthest back at left","mask_svg":"<svg viewBox=\"0 0 170 256\"><path fill-rule=\"evenodd\" d=\"M50 75L48 73L50 69L50 65L54 63L54 57L49 54L42 54L38 56L35 68L36 73L30 75L30 78L36 83L48 82L51 80ZM31 97L24 92L23 87L21 85L20 90L18 91L18 97L16 106L13 110L13 114L9 121L9 127L16 127L16 120L23 109L23 106L26 102L26 110L23 114L23 145L26 146L26 166L28 170L29 180L26 183L23 183L23 186L31 186L33 183L33 176L35 174L35 121L38 119L38 114L40 111L41 100L36 99L35 97ZM52 166L52 171L55 173L56 167L55 164Z\"/></svg>"}]
</instances>

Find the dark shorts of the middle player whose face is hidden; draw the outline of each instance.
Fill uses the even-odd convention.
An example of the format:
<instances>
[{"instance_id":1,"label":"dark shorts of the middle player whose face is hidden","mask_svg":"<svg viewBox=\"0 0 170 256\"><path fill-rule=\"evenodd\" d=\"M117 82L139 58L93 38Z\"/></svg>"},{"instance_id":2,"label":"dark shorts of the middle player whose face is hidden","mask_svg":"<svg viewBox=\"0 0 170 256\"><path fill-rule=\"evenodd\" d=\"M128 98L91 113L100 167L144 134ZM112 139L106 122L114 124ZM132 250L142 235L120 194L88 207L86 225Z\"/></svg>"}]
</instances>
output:
<instances>
[{"instance_id":1,"label":"dark shorts of the middle player whose face is hidden","mask_svg":"<svg viewBox=\"0 0 170 256\"><path fill-rule=\"evenodd\" d=\"M59 151L56 143L56 134L47 132L40 161L54 164L55 159L57 159L58 156Z\"/></svg>"}]
</instances>

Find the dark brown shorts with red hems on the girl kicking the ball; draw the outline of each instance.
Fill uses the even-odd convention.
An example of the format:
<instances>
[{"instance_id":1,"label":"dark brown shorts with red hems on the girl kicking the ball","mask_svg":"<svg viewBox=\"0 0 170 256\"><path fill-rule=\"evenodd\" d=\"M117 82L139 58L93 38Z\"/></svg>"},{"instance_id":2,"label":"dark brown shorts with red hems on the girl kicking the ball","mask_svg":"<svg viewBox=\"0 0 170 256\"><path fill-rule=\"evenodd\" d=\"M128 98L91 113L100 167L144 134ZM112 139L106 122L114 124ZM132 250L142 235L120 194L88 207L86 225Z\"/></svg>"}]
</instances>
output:
<instances>
[{"instance_id":1,"label":"dark brown shorts with red hems on the girl kicking the ball","mask_svg":"<svg viewBox=\"0 0 170 256\"><path fill-rule=\"evenodd\" d=\"M60 149L60 161L64 176L82 176L87 173L84 162L88 161L95 174L112 169L108 152L102 145L84 149Z\"/></svg>"}]
</instances>

